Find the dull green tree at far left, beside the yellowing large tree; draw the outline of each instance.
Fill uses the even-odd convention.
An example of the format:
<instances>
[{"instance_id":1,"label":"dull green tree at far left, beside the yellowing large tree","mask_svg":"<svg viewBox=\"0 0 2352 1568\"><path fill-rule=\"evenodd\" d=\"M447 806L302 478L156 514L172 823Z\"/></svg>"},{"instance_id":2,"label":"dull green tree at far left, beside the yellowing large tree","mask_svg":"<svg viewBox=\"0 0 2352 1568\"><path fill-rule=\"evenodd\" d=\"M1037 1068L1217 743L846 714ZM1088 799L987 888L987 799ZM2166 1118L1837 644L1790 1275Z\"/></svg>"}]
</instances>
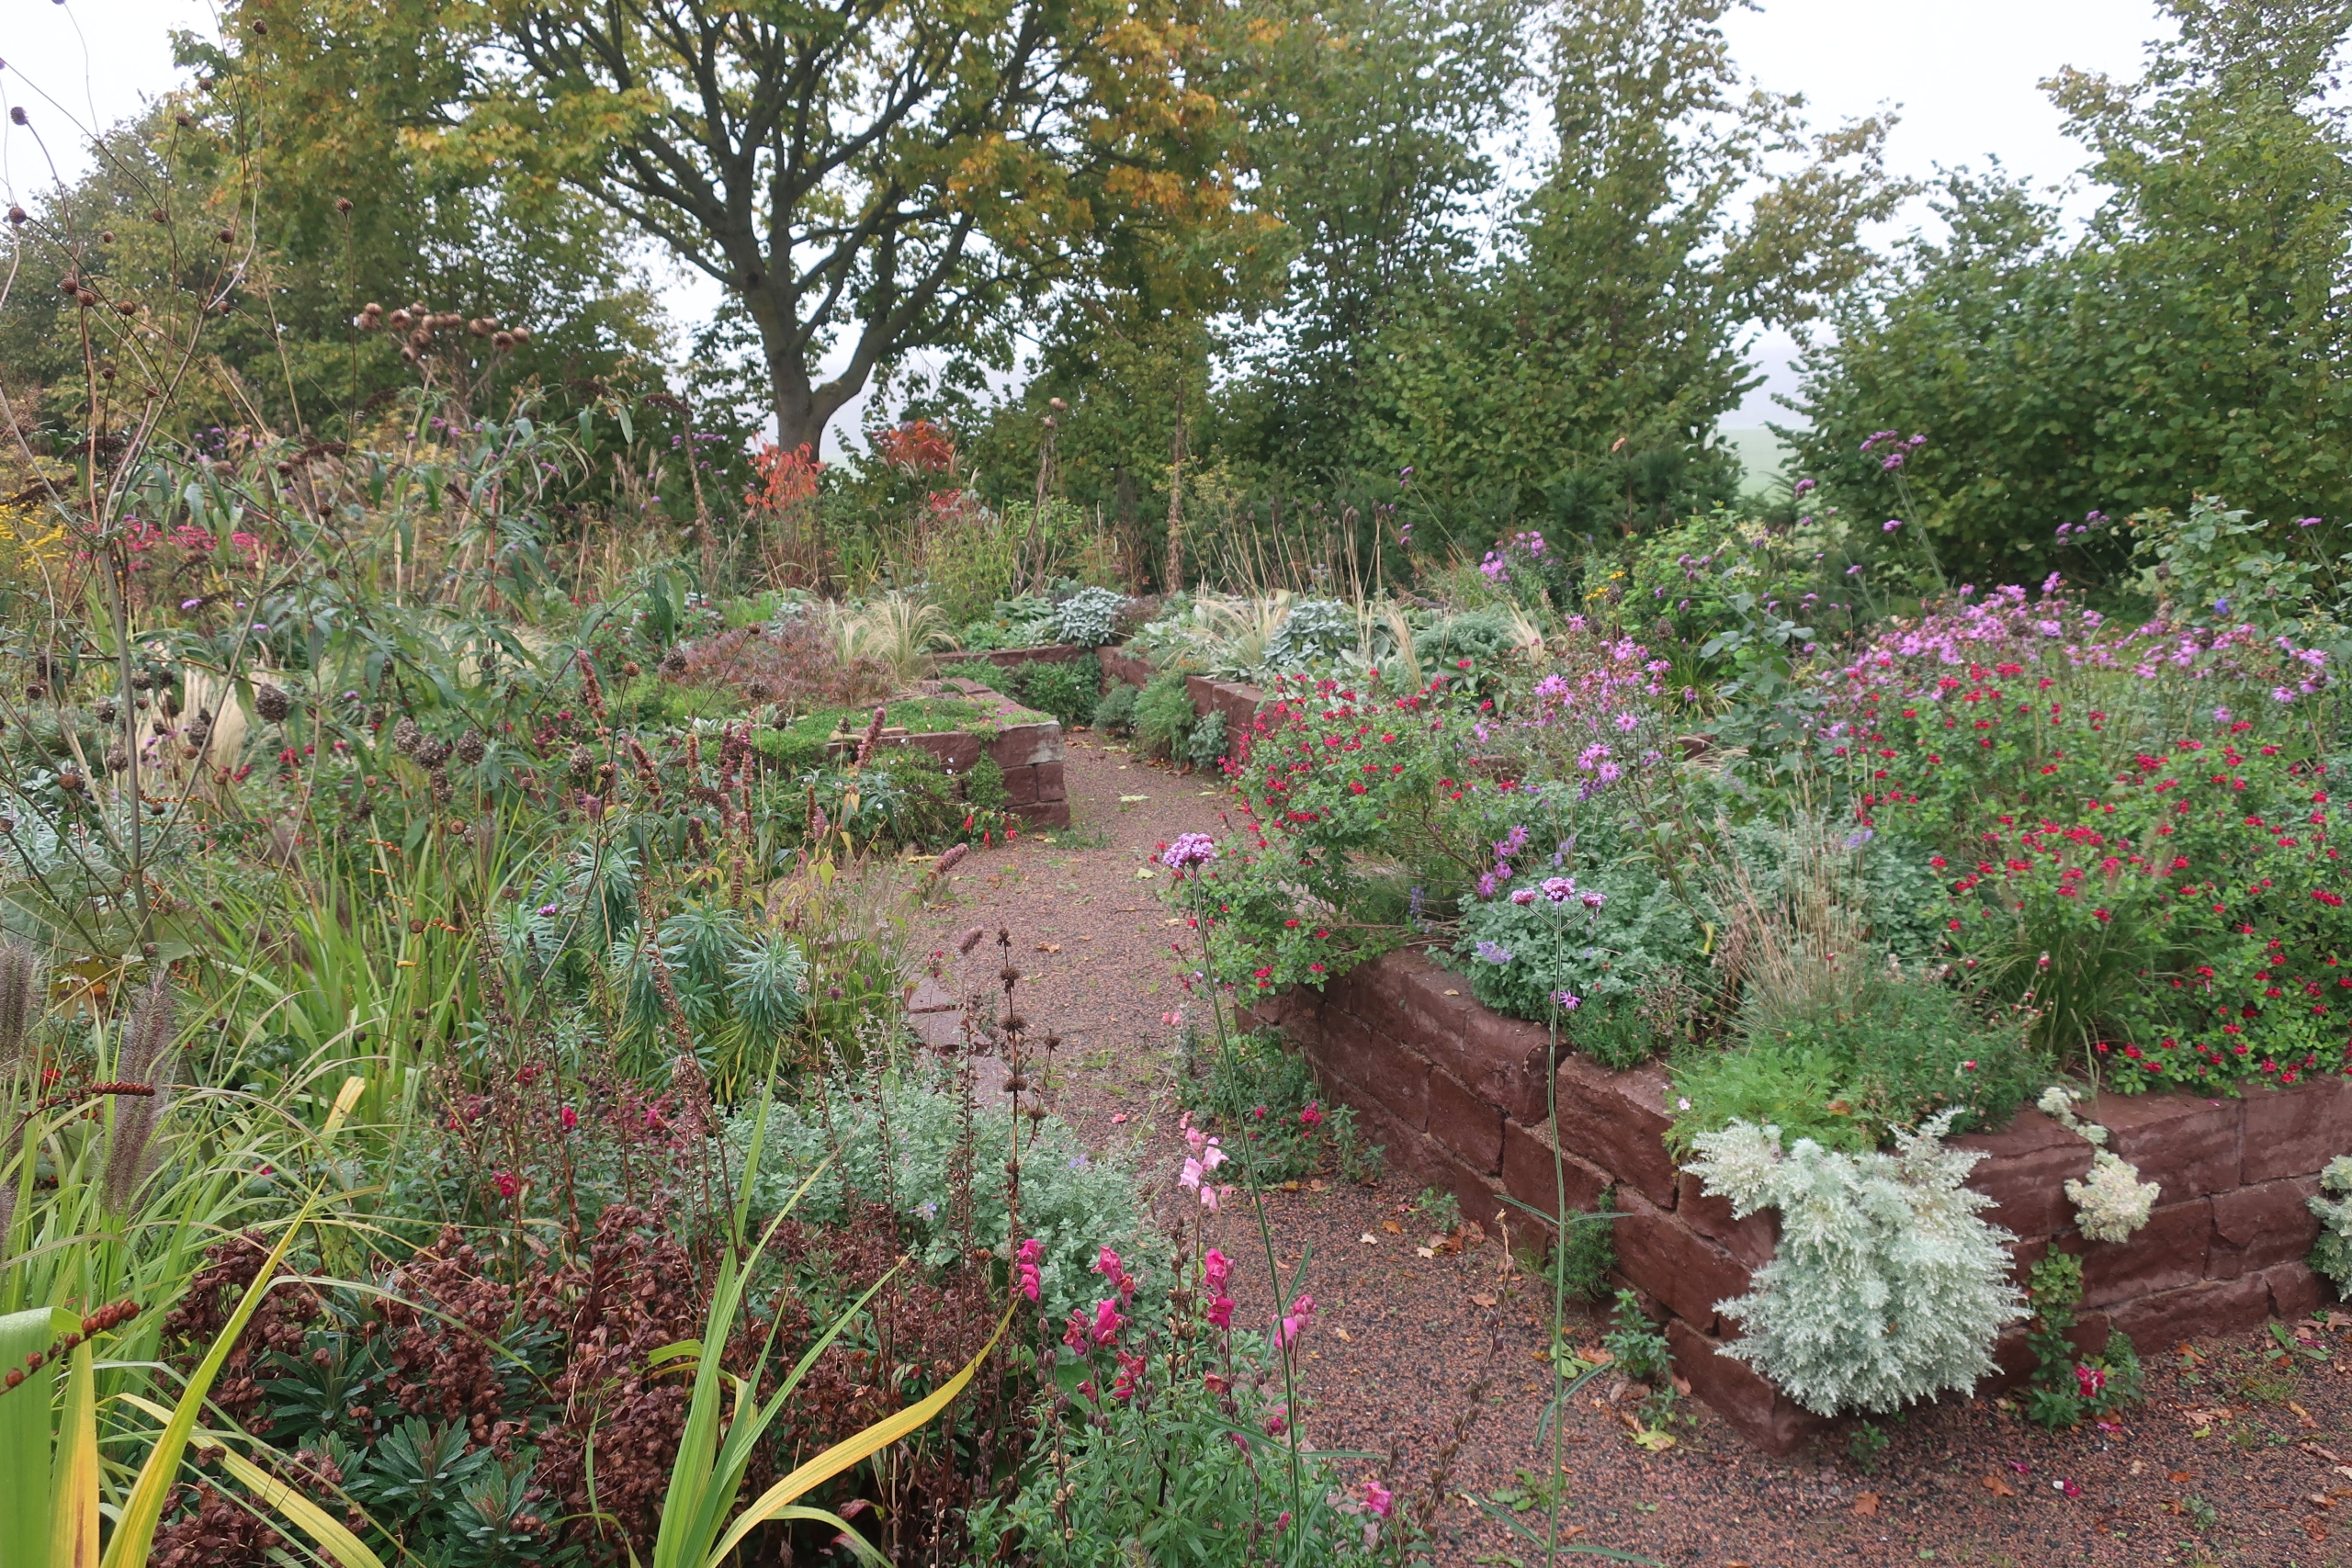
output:
<instances>
[{"instance_id":1,"label":"dull green tree at far left, beside the yellowing large tree","mask_svg":"<svg viewBox=\"0 0 2352 1568\"><path fill-rule=\"evenodd\" d=\"M419 376L397 334L355 327L369 299L527 324L496 388L612 376L659 350L652 294L604 214L569 193L522 205L414 155L405 129L449 68L393 47L400 7L289 9L249 5L221 45L183 35L195 80L96 132L89 172L19 226L28 256L96 280L108 308L134 306L96 334L101 360L125 334L200 339L183 367L198 386L179 390L202 395L181 407L336 433ZM205 329L186 331L198 317ZM47 287L0 310L0 362L52 390L61 428L87 402L80 327Z\"/></svg>"}]
</instances>

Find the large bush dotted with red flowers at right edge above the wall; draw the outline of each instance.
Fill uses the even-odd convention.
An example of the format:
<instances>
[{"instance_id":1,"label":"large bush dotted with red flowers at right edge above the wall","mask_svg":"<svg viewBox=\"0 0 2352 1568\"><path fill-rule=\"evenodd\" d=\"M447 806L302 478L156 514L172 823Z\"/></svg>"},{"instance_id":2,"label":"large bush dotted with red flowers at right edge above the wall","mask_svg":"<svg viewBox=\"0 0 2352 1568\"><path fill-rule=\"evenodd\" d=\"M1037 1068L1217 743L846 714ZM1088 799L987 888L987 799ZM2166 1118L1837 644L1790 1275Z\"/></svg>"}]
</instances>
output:
<instances>
[{"instance_id":1,"label":"large bush dotted with red flowers at right edge above the wall","mask_svg":"<svg viewBox=\"0 0 2352 1568\"><path fill-rule=\"evenodd\" d=\"M2037 1044L2124 1093L2293 1084L2352 1065L2326 665L2004 588L1872 642L1830 729L1863 827L1943 849L1947 952L2032 997Z\"/></svg>"}]
</instances>

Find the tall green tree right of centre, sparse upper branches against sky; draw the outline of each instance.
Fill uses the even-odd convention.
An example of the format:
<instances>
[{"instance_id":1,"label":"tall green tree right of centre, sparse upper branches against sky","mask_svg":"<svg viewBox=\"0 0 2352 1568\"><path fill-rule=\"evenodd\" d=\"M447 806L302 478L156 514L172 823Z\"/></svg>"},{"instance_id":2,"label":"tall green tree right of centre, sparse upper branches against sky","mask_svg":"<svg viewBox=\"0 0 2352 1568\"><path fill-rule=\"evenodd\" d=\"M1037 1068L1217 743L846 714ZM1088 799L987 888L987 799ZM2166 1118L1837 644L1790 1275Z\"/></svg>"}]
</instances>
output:
<instances>
[{"instance_id":1,"label":"tall green tree right of centre, sparse upper branches against sky","mask_svg":"<svg viewBox=\"0 0 2352 1568\"><path fill-rule=\"evenodd\" d=\"M1903 188L1879 167L1882 120L1806 136L1799 99L1743 89L1724 9L1564 7L1557 162L1501 261L1378 334L1359 435L1376 465L1414 465L1472 512L1576 529L1729 496L1712 430L1755 386L1745 327L1809 320Z\"/></svg>"}]
</instances>

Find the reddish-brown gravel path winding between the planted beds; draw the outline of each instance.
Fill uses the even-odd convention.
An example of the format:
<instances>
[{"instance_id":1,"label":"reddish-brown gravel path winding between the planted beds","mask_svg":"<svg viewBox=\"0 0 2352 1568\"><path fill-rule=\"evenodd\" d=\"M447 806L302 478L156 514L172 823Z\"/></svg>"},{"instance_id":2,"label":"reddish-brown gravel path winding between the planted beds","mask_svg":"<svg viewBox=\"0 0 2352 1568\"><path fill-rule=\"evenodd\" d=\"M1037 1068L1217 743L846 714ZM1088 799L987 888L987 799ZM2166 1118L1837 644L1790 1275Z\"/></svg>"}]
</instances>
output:
<instances>
[{"instance_id":1,"label":"reddish-brown gravel path winding between the planted beds","mask_svg":"<svg viewBox=\"0 0 2352 1568\"><path fill-rule=\"evenodd\" d=\"M1061 1037L1054 1107L1105 1152L1167 1171L1174 1192L1181 1051L1162 1013L1181 999L1171 943L1188 933L1138 870L1164 839L1221 827L1223 792L1084 731L1070 738L1068 788L1075 825L967 858L924 938L946 950L950 980L985 985L993 945L957 964L955 933L1011 931L1021 1011ZM1423 1516L1439 1563L1541 1563L1541 1544L1496 1521L1541 1540L1541 1279L1498 1239L1435 1246L1416 1197L1404 1175L1355 1187L1331 1173L1268 1197L1284 1276L1305 1258L1319 1305L1303 1432L1369 1455L1341 1462L1350 1479L1435 1500ZM1240 1260L1237 1316L1263 1321L1256 1220L1235 1201L1218 1222ZM1585 1347L1604 1331L1578 1314L1569 1338ZM1945 1399L1882 1422L1870 1462L1856 1460L1853 1427L1762 1455L1696 1401L1682 1403L1672 1448L1649 1453L1632 1443L1637 1396L1604 1375L1562 1422L1562 1526L1573 1547L1677 1568L2352 1568L2352 1316L2298 1326L2291 1342L2140 1345L2150 1401L2112 1429L2049 1434L1999 1401Z\"/></svg>"}]
</instances>

